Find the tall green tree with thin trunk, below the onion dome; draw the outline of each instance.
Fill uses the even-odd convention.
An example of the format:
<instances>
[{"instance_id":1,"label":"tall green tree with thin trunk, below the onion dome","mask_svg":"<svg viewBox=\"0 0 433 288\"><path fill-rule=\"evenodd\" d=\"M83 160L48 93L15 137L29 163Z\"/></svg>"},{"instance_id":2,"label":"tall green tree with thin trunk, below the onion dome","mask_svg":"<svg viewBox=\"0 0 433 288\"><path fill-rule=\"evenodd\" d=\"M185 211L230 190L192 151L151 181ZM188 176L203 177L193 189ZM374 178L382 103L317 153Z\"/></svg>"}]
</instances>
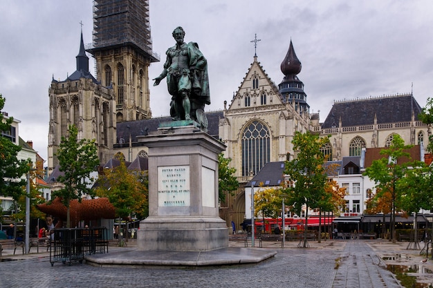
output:
<instances>
[{"instance_id":1,"label":"tall green tree with thin trunk, below the onion dome","mask_svg":"<svg viewBox=\"0 0 433 288\"><path fill-rule=\"evenodd\" d=\"M309 132L296 132L293 137L293 149L297 157L286 161L284 173L290 177L290 184L286 185L287 203L293 206L300 215L305 205L304 248L308 247L306 229L308 224L308 209L319 208L326 197L325 186L327 176L324 173L324 155L320 148L328 143L328 138L320 138Z\"/></svg>"}]
</instances>

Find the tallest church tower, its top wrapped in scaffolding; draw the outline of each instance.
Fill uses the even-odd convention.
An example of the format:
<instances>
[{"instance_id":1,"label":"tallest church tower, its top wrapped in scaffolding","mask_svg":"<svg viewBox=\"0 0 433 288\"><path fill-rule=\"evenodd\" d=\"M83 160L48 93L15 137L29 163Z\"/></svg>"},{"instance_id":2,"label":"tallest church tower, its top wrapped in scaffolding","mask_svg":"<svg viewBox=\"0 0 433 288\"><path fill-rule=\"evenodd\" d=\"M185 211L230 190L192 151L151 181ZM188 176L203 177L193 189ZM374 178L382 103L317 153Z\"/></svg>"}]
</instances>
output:
<instances>
[{"instance_id":1,"label":"tallest church tower, its top wrapped in scaffolding","mask_svg":"<svg viewBox=\"0 0 433 288\"><path fill-rule=\"evenodd\" d=\"M152 52L148 0L93 1L93 45L98 81L113 88L116 121L151 117L148 68Z\"/></svg>"}]
</instances>

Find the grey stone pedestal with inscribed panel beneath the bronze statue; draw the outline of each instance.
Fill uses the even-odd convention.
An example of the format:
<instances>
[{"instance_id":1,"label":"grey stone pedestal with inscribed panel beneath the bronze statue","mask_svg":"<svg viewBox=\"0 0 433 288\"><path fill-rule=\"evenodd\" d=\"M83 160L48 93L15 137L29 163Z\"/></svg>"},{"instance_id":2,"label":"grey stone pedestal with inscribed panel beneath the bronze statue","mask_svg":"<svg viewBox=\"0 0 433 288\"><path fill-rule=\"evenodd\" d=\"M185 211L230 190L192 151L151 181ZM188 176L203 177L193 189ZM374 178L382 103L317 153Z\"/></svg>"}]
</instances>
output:
<instances>
[{"instance_id":1,"label":"grey stone pedestal with inscribed panel beneath the bronze statue","mask_svg":"<svg viewBox=\"0 0 433 288\"><path fill-rule=\"evenodd\" d=\"M219 218L221 142L194 126L139 137L149 148L149 217L140 222L141 251L209 251L228 247Z\"/></svg>"}]
</instances>

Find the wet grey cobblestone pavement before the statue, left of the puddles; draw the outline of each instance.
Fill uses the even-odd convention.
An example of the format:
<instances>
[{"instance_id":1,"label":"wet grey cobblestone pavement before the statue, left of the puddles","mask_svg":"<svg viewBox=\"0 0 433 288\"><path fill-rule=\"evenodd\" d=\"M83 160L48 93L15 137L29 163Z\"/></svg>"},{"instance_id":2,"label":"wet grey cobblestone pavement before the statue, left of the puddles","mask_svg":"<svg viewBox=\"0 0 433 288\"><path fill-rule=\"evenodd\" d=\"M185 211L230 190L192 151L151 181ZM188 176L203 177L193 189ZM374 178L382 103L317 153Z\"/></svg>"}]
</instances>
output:
<instances>
[{"instance_id":1,"label":"wet grey cobblestone pavement before the statue, left of the puddles","mask_svg":"<svg viewBox=\"0 0 433 288\"><path fill-rule=\"evenodd\" d=\"M79 262L71 266L56 262L51 267L47 253L3 255L22 260L0 262L0 287L401 287L381 257L405 251L405 244L372 241L310 242L308 249L297 248L297 242L286 242L284 249L279 242L269 242L255 249L277 251L270 260L201 269L93 267Z\"/></svg>"}]
</instances>

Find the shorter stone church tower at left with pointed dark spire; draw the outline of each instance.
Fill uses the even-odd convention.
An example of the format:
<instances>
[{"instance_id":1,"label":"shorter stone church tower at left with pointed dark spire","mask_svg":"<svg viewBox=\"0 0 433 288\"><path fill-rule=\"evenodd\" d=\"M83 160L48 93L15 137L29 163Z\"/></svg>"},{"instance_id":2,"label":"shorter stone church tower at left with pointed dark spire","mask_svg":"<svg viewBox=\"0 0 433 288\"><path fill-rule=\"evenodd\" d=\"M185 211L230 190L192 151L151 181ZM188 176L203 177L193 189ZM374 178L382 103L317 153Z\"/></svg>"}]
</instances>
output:
<instances>
[{"instance_id":1,"label":"shorter stone church tower at left with pointed dark spire","mask_svg":"<svg viewBox=\"0 0 433 288\"><path fill-rule=\"evenodd\" d=\"M77 127L80 140L96 141L101 162L107 161L110 149L116 143L116 101L113 89L100 85L91 75L82 33L80 40L77 70L64 81L56 81L53 77L48 90L48 173L59 164L55 154L70 125Z\"/></svg>"}]
</instances>

